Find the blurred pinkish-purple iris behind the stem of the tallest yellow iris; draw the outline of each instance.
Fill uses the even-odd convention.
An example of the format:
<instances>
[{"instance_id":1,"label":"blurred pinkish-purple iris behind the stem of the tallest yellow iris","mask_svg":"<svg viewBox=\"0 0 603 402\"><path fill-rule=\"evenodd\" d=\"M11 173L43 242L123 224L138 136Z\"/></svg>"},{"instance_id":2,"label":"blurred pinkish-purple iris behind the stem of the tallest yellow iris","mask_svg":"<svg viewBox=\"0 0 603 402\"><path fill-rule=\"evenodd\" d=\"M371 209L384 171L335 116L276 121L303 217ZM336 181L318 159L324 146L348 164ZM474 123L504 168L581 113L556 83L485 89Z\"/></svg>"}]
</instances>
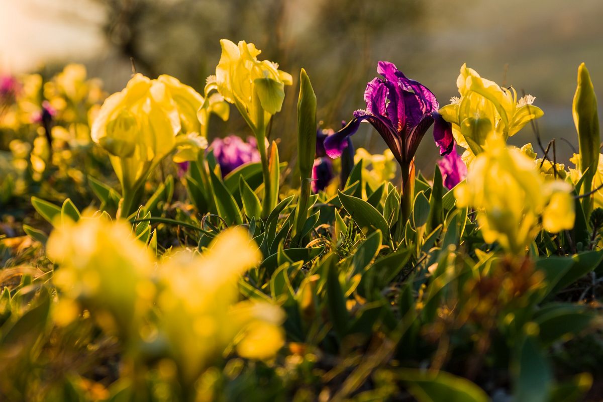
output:
<instances>
[{"instance_id":1,"label":"blurred pinkish-purple iris behind the stem of the tallest yellow iris","mask_svg":"<svg viewBox=\"0 0 603 402\"><path fill-rule=\"evenodd\" d=\"M208 149L213 149L213 156L218 161L223 176L245 163L260 162L260 152L257 151L254 137L247 137L247 142L238 136L216 138Z\"/></svg>"}]
</instances>

